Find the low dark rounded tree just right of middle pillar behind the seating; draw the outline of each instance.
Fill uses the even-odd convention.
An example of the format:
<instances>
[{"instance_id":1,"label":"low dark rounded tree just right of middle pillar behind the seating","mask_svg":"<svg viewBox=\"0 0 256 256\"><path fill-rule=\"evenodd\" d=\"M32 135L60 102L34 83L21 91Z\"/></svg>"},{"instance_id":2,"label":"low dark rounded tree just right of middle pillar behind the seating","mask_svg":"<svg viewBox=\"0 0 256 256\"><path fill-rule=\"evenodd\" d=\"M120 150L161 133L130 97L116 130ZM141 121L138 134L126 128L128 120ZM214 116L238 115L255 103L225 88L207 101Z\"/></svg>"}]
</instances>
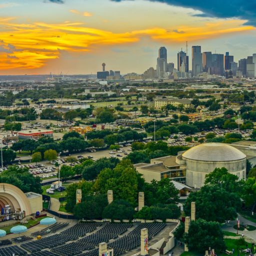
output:
<instances>
[{"instance_id":1,"label":"low dark rounded tree just right of middle pillar behind the seating","mask_svg":"<svg viewBox=\"0 0 256 256\"><path fill-rule=\"evenodd\" d=\"M113 219L128 219L132 220L134 214L134 208L132 205L126 200L113 200L110 204L108 204L103 212L103 218Z\"/></svg>"}]
</instances>

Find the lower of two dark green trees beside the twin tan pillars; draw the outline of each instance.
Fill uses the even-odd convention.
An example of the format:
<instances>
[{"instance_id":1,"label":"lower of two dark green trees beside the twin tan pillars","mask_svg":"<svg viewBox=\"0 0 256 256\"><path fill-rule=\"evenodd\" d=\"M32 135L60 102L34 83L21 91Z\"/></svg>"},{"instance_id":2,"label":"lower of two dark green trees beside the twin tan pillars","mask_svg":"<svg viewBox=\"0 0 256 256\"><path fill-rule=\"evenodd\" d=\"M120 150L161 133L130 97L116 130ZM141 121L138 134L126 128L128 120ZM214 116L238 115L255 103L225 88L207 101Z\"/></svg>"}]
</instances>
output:
<instances>
[{"instance_id":1,"label":"lower of two dark green trees beside the twin tan pillars","mask_svg":"<svg viewBox=\"0 0 256 256\"><path fill-rule=\"evenodd\" d=\"M225 251L224 235L220 224L204 219L191 221L188 233L184 233L183 240L189 251L204 253L209 247L216 252Z\"/></svg>"}]
</instances>

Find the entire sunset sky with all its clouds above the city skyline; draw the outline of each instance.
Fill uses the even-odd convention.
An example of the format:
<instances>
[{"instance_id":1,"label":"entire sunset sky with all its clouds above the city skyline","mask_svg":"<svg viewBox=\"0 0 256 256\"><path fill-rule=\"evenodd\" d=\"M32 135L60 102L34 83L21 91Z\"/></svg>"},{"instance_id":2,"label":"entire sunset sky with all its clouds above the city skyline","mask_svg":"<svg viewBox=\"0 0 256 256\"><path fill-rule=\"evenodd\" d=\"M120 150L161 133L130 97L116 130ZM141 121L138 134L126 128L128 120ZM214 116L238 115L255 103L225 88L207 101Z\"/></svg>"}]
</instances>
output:
<instances>
[{"instance_id":1,"label":"entire sunset sky with all its clouds above the city skyline","mask_svg":"<svg viewBox=\"0 0 256 256\"><path fill-rule=\"evenodd\" d=\"M256 52L256 0L0 0L0 74L142 73L158 48Z\"/></svg>"}]
</instances>

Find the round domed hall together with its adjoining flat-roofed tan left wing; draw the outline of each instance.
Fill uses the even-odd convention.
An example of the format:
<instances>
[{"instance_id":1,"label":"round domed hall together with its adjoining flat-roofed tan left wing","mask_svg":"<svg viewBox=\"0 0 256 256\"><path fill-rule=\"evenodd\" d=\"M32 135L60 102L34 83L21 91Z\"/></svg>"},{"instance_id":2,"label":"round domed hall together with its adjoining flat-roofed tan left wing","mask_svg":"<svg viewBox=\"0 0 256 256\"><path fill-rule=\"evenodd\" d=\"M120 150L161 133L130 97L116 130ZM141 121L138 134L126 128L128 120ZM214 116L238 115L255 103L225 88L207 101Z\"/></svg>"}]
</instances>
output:
<instances>
[{"instance_id":1,"label":"round domed hall together with its adjoining flat-roofed tan left wing","mask_svg":"<svg viewBox=\"0 0 256 256\"><path fill-rule=\"evenodd\" d=\"M225 167L239 179L245 178L246 155L225 143L203 143L179 152L177 156L164 156L148 163L134 164L146 182L170 178L173 181L200 188L205 175L215 168Z\"/></svg>"}]
</instances>

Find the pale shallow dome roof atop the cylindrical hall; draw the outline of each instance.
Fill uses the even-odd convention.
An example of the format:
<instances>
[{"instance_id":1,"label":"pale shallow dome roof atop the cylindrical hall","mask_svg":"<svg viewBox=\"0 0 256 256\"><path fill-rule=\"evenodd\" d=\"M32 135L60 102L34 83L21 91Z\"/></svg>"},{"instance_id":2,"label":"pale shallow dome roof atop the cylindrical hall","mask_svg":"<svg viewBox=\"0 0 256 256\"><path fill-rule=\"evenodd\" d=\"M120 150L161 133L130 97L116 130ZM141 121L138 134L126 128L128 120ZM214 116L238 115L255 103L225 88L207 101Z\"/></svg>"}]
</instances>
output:
<instances>
[{"instance_id":1,"label":"pale shallow dome roof atop the cylindrical hall","mask_svg":"<svg viewBox=\"0 0 256 256\"><path fill-rule=\"evenodd\" d=\"M182 157L200 161L235 161L244 159L246 155L225 143L203 143L186 150Z\"/></svg>"}]
</instances>

